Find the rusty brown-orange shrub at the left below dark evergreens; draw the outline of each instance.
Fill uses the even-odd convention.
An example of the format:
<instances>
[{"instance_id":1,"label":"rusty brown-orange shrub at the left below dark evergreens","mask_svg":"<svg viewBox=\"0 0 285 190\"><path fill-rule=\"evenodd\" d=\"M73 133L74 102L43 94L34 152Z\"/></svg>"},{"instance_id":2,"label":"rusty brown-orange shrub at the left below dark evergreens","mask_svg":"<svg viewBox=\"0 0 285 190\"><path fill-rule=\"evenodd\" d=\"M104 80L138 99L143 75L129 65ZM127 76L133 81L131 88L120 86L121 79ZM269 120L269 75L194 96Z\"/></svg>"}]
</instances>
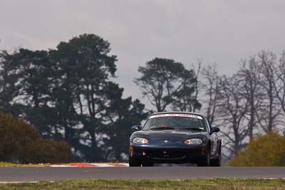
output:
<instances>
[{"instance_id":1,"label":"rusty brown-orange shrub at the left below dark evergreens","mask_svg":"<svg viewBox=\"0 0 285 190\"><path fill-rule=\"evenodd\" d=\"M0 112L0 161L58 163L70 160L69 144L43 140L32 125Z\"/></svg>"}]
</instances>

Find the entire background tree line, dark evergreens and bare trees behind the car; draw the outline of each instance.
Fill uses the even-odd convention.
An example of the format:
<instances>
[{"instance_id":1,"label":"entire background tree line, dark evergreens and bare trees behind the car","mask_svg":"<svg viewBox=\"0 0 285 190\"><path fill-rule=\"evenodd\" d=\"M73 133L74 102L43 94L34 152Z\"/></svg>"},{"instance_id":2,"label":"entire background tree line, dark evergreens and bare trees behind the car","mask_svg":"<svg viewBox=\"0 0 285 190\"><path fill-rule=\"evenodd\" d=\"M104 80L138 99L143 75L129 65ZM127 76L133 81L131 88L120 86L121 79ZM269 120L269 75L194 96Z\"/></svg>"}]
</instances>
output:
<instances>
[{"instance_id":1,"label":"entire background tree line, dark evergreens and bare trees behind the car","mask_svg":"<svg viewBox=\"0 0 285 190\"><path fill-rule=\"evenodd\" d=\"M202 112L222 130L224 156L234 157L256 134L283 125L285 53L260 52L242 60L233 75L216 65L188 67L154 58L138 68L134 83L145 99L123 97L113 82L117 56L94 34L76 36L56 49L0 52L0 110L36 127L44 139L68 142L73 160L125 159L130 126L150 112Z\"/></svg>"}]
</instances>

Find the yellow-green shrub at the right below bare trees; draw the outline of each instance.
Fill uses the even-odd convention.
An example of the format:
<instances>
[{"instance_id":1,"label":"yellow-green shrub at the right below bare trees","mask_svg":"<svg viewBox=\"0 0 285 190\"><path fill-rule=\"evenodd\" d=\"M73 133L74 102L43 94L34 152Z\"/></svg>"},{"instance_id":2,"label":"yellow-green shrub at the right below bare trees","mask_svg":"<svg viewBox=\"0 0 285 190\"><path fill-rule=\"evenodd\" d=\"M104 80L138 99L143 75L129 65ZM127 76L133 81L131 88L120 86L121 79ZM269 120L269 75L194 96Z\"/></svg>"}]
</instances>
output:
<instances>
[{"instance_id":1,"label":"yellow-green shrub at the right below bare trees","mask_svg":"<svg viewBox=\"0 0 285 190\"><path fill-rule=\"evenodd\" d=\"M285 166L285 137L281 137L278 132L259 136L249 143L247 149L240 151L229 165L234 167Z\"/></svg>"}]
</instances>

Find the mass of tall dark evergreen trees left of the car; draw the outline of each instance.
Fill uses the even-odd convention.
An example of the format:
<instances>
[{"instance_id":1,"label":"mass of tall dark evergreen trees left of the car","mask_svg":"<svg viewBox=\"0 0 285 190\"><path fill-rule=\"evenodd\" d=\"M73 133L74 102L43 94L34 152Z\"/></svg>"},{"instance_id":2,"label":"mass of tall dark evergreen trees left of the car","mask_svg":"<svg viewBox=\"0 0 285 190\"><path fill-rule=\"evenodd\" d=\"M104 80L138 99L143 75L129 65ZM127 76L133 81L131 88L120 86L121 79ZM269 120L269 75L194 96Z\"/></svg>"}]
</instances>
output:
<instances>
[{"instance_id":1,"label":"mass of tall dark evergreen trees left of the car","mask_svg":"<svg viewBox=\"0 0 285 190\"><path fill-rule=\"evenodd\" d=\"M112 126L114 134L120 133L115 125L139 123L145 112L138 100L123 98L123 88L111 80L117 58L109 53L110 43L93 34L61 42L56 50L1 51L0 108L35 125L48 143L57 139L71 144L75 159L104 161L105 148L120 159L125 144L107 146L110 133L105 129ZM124 113L116 108L119 102Z\"/></svg>"}]
</instances>

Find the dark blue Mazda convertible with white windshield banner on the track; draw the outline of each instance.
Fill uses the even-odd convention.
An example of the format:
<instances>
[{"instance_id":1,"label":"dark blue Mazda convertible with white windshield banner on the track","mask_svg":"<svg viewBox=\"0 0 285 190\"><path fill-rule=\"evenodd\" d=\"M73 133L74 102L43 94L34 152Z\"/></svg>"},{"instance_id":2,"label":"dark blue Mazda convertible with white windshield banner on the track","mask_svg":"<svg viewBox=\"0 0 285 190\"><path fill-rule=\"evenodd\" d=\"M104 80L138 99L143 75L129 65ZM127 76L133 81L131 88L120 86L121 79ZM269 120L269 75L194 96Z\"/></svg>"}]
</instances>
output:
<instances>
[{"instance_id":1,"label":"dark blue Mazda convertible with white windshield banner on the track","mask_svg":"<svg viewBox=\"0 0 285 190\"><path fill-rule=\"evenodd\" d=\"M143 127L132 127L130 167L152 167L154 163L197 163L198 167L221 165L222 140L218 127L192 112L158 112Z\"/></svg>"}]
</instances>

